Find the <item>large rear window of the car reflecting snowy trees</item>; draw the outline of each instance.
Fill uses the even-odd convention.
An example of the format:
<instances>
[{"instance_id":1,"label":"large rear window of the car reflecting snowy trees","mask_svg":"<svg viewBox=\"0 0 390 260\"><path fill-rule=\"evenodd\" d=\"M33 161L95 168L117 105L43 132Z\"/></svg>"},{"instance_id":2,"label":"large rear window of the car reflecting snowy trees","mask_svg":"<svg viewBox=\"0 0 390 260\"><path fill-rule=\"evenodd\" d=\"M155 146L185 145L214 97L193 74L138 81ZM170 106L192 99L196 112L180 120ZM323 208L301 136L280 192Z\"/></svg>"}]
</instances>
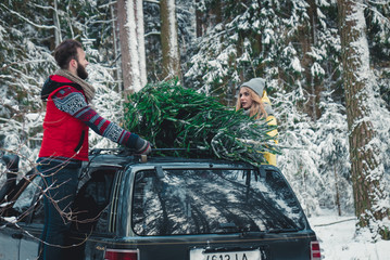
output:
<instances>
[{"instance_id":1,"label":"large rear window of the car reflecting snowy trees","mask_svg":"<svg viewBox=\"0 0 390 260\"><path fill-rule=\"evenodd\" d=\"M305 226L278 172L261 177L243 169L139 171L131 205L133 230L141 236L288 232Z\"/></svg>"}]
</instances>

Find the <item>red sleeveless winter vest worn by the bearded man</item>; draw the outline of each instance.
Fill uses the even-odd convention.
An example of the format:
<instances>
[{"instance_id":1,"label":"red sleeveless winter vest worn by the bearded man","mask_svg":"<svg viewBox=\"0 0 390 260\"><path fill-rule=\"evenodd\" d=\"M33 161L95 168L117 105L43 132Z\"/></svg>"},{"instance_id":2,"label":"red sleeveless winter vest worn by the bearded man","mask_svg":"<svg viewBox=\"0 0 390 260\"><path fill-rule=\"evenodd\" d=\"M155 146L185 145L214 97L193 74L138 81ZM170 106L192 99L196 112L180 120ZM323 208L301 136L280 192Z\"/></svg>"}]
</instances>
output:
<instances>
[{"instance_id":1,"label":"red sleeveless winter vest worn by the bearded man","mask_svg":"<svg viewBox=\"0 0 390 260\"><path fill-rule=\"evenodd\" d=\"M47 110L43 120L43 140L39 157L88 160L88 126L56 108L52 100L54 93L68 86L72 87L73 82L58 75L51 76L50 79L53 84L58 82L71 84L53 88L53 91L48 95ZM84 94L80 89L77 91Z\"/></svg>"}]
</instances>

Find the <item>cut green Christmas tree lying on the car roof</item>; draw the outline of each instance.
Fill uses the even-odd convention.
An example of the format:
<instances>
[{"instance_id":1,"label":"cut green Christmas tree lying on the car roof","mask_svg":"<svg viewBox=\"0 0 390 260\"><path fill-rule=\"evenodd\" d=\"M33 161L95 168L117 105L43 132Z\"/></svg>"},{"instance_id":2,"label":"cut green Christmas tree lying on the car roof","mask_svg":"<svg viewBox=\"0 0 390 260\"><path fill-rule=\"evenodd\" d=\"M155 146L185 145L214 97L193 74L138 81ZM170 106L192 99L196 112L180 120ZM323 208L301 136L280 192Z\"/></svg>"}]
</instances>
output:
<instances>
[{"instance_id":1,"label":"cut green Christmas tree lying on the car roof","mask_svg":"<svg viewBox=\"0 0 390 260\"><path fill-rule=\"evenodd\" d=\"M255 120L176 80L146 86L129 95L125 127L154 148L185 148L188 156L241 160L259 166L263 153L279 154L264 119Z\"/></svg>"}]
</instances>

